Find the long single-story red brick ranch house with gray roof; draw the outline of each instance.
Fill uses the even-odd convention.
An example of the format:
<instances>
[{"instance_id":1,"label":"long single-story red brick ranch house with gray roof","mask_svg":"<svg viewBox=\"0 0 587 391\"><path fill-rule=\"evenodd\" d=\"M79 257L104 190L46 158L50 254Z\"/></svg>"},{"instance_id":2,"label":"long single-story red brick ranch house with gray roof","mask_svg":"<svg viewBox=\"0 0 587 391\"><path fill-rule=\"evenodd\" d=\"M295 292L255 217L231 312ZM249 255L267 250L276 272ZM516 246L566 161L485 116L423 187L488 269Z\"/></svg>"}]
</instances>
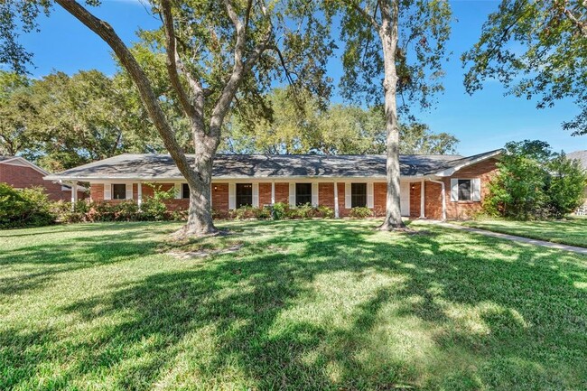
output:
<instances>
[{"instance_id":1,"label":"long single-story red brick ranch house with gray roof","mask_svg":"<svg viewBox=\"0 0 587 391\"><path fill-rule=\"evenodd\" d=\"M489 177L496 171L500 150L469 157L460 155L402 155L402 215L426 219L467 219L480 210ZM140 203L156 184L175 189L172 209L188 207L189 188L168 154L121 154L45 180L89 182L93 201ZM328 206L336 217L353 207L368 207L377 215L386 209L386 157L383 155L261 155L219 154L214 161L212 209L229 209L275 202L290 206Z\"/></svg>"}]
</instances>

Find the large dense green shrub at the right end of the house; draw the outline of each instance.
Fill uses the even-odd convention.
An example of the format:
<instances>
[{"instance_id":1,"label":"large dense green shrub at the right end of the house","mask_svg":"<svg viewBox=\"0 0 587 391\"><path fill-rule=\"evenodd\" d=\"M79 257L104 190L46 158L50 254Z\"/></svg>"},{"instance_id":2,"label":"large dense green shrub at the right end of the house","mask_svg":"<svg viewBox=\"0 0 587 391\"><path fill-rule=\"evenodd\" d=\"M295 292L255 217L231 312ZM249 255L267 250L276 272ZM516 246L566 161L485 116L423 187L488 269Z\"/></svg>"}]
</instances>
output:
<instances>
[{"instance_id":1,"label":"large dense green shrub at the right end of the house","mask_svg":"<svg viewBox=\"0 0 587 391\"><path fill-rule=\"evenodd\" d=\"M483 209L511 219L562 218L582 204L586 173L541 141L508 143Z\"/></svg>"}]
</instances>

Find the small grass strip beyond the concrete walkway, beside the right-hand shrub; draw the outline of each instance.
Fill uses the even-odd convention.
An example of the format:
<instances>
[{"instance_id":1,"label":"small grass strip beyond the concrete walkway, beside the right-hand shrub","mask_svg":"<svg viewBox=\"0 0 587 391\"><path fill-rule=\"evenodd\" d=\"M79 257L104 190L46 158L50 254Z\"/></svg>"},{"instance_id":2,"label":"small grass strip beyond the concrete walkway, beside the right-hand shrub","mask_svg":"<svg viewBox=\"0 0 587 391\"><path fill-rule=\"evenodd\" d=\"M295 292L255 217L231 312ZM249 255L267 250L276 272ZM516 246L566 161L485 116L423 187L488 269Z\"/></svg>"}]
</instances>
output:
<instances>
[{"instance_id":1,"label":"small grass strip beyond the concrete walkway, beside the right-hand shrub","mask_svg":"<svg viewBox=\"0 0 587 391\"><path fill-rule=\"evenodd\" d=\"M461 224L519 237L587 247L587 219L580 217L549 221L471 220Z\"/></svg>"}]
</instances>

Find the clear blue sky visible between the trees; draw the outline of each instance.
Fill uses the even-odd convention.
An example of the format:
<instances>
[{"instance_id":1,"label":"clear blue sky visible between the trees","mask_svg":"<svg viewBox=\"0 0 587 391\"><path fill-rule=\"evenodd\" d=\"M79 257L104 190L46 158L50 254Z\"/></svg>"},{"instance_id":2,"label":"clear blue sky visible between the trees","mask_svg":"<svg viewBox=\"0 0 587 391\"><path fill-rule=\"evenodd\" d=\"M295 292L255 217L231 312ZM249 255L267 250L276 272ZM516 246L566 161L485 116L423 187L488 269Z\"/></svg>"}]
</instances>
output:
<instances>
[{"instance_id":1,"label":"clear blue sky visible between the trees","mask_svg":"<svg viewBox=\"0 0 587 391\"><path fill-rule=\"evenodd\" d=\"M445 92L438 97L438 104L422 113L419 119L434 132L456 135L461 140L460 154L478 154L499 148L508 141L524 139L544 140L555 150L566 152L587 149L587 136L572 137L561 127L565 119L571 119L578 111L571 101L560 101L553 108L538 110L534 101L504 97L505 89L491 80L472 97L465 93L461 52L476 42L481 24L497 8L498 2L461 0L452 1L451 5L455 21L449 51L453 54L445 67ZM149 29L159 25L159 21L135 0L105 0L102 7L93 11L111 23L125 42L135 40L138 27ZM107 74L116 71L106 43L59 7L50 18L42 17L41 33L24 35L23 43L34 53L36 68L31 69L34 77L52 70L69 74L90 69ZM330 61L329 72L335 81L340 78L338 59ZM333 101L340 101L340 98L335 96Z\"/></svg>"}]
</instances>

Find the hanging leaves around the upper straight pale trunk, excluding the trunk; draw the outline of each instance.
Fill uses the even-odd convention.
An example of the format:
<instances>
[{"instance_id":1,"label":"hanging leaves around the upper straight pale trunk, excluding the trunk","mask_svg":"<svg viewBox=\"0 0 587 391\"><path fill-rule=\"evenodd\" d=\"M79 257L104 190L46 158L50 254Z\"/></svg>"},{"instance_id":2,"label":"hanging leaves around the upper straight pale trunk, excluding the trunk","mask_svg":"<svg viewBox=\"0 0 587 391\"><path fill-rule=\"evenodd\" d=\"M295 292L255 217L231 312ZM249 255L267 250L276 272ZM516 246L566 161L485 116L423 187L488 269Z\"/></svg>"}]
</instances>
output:
<instances>
[{"instance_id":1,"label":"hanging leaves around the upper straight pale trunk, excluding the trunk","mask_svg":"<svg viewBox=\"0 0 587 391\"><path fill-rule=\"evenodd\" d=\"M443 61L447 59L446 42L451 33L450 2L340 0L330 3L342 11L340 39L345 47L340 88L344 98L382 102L384 94L378 80L384 79L385 59L379 31L365 14L371 15L380 26L383 5L391 8L397 4L396 87L397 96L403 98L399 108L407 113L410 106L431 107L434 95L443 91Z\"/></svg>"}]
</instances>

